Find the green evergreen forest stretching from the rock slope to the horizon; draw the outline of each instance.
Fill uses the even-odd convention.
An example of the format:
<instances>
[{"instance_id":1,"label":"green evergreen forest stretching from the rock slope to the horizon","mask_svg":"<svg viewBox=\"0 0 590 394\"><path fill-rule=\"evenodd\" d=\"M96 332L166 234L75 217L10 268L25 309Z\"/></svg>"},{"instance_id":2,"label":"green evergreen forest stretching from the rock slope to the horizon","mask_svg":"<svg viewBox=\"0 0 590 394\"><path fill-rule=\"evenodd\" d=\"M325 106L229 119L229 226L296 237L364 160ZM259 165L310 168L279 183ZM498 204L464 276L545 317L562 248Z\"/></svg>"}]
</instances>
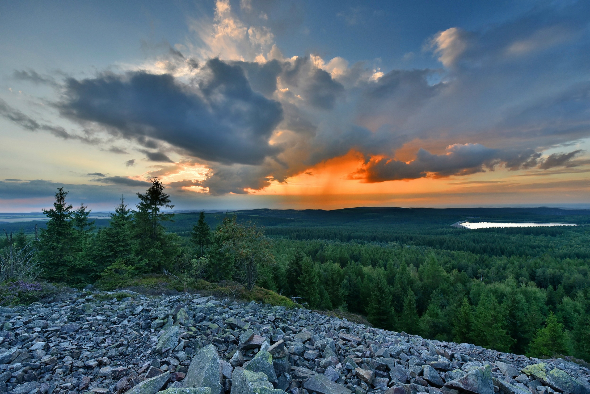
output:
<instances>
[{"instance_id":1,"label":"green evergreen forest stretching from the rock slope to the horizon","mask_svg":"<svg viewBox=\"0 0 590 394\"><path fill-rule=\"evenodd\" d=\"M174 214L157 179L109 219L58 189L42 222L2 223L1 301L44 284L106 290L166 278L267 289L374 327L590 362L590 211L557 208L256 209ZM469 230L455 222L578 226Z\"/></svg>"}]
</instances>

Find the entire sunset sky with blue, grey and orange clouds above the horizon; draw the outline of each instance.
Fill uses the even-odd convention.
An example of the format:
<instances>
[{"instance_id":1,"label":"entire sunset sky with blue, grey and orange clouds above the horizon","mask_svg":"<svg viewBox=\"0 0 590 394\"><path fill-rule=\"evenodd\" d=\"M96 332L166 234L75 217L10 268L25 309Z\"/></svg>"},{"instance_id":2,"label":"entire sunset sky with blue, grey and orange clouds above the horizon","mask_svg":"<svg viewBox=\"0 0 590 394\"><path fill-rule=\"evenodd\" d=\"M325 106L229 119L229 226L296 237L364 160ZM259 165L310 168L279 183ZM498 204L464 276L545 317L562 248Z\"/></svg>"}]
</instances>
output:
<instances>
[{"instance_id":1,"label":"entire sunset sky with blue, grey and orange clouds above the horizon","mask_svg":"<svg viewBox=\"0 0 590 394\"><path fill-rule=\"evenodd\" d=\"M0 212L590 207L588 1L0 2Z\"/></svg>"}]
</instances>

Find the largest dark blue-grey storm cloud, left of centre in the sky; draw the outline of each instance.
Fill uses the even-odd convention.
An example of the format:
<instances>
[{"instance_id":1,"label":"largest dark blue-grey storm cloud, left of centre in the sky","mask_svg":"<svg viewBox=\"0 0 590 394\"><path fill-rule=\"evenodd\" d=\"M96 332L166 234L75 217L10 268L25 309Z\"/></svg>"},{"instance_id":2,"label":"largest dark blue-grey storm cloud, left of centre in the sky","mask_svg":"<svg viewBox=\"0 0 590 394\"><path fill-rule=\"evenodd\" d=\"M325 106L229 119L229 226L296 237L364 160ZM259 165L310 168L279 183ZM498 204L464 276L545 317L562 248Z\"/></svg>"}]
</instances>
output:
<instances>
[{"instance_id":1,"label":"largest dark blue-grey storm cloud, left of centre in the sky","mask_svg":"<svg viewBox=\"0 0 590 394\"><path fill-rule=\"evenodd\" d=\"M268 139L283 117L281 105L253 91L238 65L211 59L204 73L196 86L143 71L68 78L58 106L78 122L146 147L156 147L150 139L165 141L204 160L258 164L278 153Z\"/></svg>"}]
</instances>

